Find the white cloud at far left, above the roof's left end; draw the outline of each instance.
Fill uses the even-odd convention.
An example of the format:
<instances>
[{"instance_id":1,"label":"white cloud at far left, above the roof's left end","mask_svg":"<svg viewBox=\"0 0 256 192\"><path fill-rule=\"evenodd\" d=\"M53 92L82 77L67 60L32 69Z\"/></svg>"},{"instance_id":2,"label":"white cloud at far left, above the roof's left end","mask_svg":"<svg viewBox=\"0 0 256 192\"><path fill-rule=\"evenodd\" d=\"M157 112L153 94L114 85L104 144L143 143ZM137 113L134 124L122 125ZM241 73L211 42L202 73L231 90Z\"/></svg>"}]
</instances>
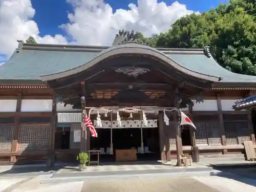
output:
<instances>
[{"instance_id":1,"label":"white cloud at far left, above the roof's left end","mask_svg":"<svg viewBox=\"0 0 256 192\"><path fill-rule=\"evenodd\" d=\"M17 40L30 35L38 42L67 43L61 35L39 37L37 24L32 20L35 10L31 0L0 0L0 54L10 56Z\"/></svg>"}]
</instances>

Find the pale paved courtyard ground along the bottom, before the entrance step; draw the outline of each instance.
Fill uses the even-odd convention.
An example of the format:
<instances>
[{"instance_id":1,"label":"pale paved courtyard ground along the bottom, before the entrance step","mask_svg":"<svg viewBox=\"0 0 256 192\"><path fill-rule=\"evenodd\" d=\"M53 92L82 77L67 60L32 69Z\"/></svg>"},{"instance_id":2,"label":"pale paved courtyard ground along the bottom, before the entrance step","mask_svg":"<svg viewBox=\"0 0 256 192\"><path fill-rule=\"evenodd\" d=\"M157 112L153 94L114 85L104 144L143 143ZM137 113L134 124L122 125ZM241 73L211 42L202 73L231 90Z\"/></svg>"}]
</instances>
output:
<instances>
[{"instance_id":1,"label":"pale paved courtyard ground along the bottom, before the entrance step","mask_svg":"<svg viewBox=\"0 0 256 192\"><path fill-rule=\"evenodd\" d=\"M209 177L115 177L84 181L42 183L40 177L0 180L1 192L254 192L255 180L240 182L218 176ZM250 179L249 179L250 180Z\"/></svg>"}]
</instances>

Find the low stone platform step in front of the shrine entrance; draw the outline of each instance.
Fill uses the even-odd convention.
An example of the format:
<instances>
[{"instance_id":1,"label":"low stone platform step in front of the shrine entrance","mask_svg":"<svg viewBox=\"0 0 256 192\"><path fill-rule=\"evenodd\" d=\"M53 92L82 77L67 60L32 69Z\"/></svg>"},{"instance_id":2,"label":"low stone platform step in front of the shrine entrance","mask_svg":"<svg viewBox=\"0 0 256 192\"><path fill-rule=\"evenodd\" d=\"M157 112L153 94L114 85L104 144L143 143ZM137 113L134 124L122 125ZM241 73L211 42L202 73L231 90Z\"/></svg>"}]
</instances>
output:
<instances>
[{"instance_id":1,"label":"low stone platform step in front of the shrine entrance","mask_svg":"<svg viewBox=\"0 0 256 192\"><path fill-rule=\"evenodd\" d=\"M115 175L142 175L142 174L173 174L189 176L193 173L207 173L210 175L212 167L195 165L188 167L176 167L163 164L130 164L130 165L104 165L87 166L80 172L78 167L66 166L55 172L53 178L74 178L74 177L108 177Z\"/></svg>"}]
</instances>

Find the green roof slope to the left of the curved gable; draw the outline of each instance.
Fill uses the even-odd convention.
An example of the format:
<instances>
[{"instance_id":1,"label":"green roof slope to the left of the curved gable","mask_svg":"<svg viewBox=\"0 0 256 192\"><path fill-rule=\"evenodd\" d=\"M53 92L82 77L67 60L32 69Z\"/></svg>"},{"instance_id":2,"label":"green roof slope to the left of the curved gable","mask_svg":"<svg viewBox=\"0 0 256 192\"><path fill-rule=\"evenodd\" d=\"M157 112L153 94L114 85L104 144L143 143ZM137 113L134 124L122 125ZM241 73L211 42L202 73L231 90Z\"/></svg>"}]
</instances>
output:
<instances>
[{"instance_id":1,"label":"green roof slope to the left of the curved gable","mask_svg":"<svg viewBox=\"0 0 256 192\"><path fill-rule=\"evenodd\" d=\"M0 79L40 79L40 75L83 65L97 55L96 52L21 50L0 67Z\"/></svg>"}]
</instances>

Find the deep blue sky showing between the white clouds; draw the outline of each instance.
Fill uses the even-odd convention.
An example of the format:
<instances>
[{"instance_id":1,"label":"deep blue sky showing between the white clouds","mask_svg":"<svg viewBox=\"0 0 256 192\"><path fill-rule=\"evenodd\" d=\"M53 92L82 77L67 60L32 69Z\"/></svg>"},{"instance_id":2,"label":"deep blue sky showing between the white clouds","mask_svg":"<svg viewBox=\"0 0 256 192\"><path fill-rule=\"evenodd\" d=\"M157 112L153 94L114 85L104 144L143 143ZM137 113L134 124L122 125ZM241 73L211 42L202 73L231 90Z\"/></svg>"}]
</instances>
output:
<instances>
[{"instance_id":1,"label":"deep blue sky showing between the white clouds","mask_svg":"<svg viewBox=\"0 0 256 192\"><path fill-rule=\"evenodd\" d=\"M137 5L137 0L106 0L113 8L129 9L128 5L134 3ZM173 0L164 0L158 2L165 2L167 5L174 3ZM193 11L207 11L211 7L216 7L219 3L227 3L228 0L179 0L180 4L185 4L188 10ZM65 32L58 28L63 23L68 23L68 12L73 12L72 6L67 4L64 0L32 0L33 8L36 10L34 20L38 25L40 35L47 34L54 35L56 33L65 34Z\"/></svg>"}]
</instances>

